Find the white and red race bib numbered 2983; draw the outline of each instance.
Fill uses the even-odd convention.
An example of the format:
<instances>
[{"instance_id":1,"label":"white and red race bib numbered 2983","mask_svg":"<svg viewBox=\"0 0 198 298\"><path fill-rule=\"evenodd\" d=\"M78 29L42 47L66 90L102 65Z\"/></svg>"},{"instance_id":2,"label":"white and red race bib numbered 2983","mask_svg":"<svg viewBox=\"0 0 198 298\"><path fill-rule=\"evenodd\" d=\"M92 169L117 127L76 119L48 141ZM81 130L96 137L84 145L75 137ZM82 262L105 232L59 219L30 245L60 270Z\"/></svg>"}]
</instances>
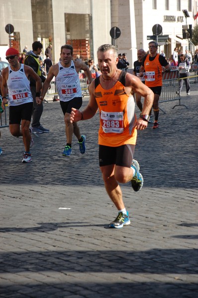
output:
<instances>
[{"instance_id":1,"label":"white and red race bib numbered 2983","mask_svg":"<svg viewBox=\"0 0 198 298\"><path fill-rule=\"evenodd\" d=\"M100 115L103 132L121 134L124 131L123 112L104 112Z\"/></svg>"}]
</instances>

